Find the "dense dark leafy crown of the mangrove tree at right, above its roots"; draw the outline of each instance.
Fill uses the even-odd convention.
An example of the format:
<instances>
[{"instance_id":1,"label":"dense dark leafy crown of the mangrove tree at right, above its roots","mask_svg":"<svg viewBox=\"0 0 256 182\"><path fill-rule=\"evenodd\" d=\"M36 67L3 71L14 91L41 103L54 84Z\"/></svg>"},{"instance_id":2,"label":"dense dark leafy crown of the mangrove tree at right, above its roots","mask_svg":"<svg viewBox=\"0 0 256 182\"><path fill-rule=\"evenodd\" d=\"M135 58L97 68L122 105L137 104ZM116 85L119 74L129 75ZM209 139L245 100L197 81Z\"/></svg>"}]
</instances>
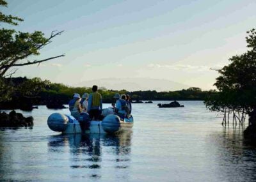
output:
<instances>
[{"instance_id":1,"label":"dense dark leafy crown of the mangrove tree at right, above its roots","mask_svg":"<svg viewBox=\"0 0 256 182\"><path fill-rule=\"evenodd\" d=\"M225 109L252 111L256 107L256 31L248 31L246 53L233 56L231 62L219 70L214 86L219 92L211 92L205 105L211 110Z\"/></svg>"}]
</instances>

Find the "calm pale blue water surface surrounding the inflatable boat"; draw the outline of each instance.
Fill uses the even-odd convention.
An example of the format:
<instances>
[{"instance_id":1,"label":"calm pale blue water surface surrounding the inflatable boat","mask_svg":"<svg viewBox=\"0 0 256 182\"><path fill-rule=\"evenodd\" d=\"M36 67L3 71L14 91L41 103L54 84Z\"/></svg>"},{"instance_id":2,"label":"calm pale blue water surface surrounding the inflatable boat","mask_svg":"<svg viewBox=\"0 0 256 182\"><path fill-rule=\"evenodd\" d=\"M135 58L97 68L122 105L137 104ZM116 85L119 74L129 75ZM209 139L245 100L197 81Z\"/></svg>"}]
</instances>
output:
<instances>
[{"instance_id":1,"label":"calm pale blue water surface surrounding the inflatable boat","mask_svg":"<svg viewBox=\"0 0 256 182\"><path fill-rule=\"evenodd\" d=\"M133 104L132 133L60 135L45 106L33 129L0 130L1 181L255 181L256 149L203 102ZM164 102L162 102L164 103ZM108 105L104 105L108 107Z\"/></svg>"}]
</instances>

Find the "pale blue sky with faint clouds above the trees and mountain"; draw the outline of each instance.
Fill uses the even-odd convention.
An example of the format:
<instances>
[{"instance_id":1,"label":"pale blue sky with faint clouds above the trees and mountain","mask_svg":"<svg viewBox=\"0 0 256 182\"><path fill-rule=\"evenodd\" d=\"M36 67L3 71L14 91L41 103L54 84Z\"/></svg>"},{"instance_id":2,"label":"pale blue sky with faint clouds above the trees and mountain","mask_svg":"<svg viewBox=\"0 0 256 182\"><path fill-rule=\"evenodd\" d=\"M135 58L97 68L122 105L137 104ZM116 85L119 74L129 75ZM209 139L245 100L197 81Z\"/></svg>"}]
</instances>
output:
<instances>
[{"instance_id":1,"label":"pale blue sky with faint clouds above the trees and mountain","mask_svg":"<svg viewBox=\"0 0 256 182\"><path fill-rule=\"evenodd\" d=\"M7 2L1 11L24 19L12 28L64 31L29 60L65 57L19 67L15 76L68 86L147 78L214 89L218 72L211 68L245 52L246 31L256 26L255 0Z\"/></svg>"}]
</instances>

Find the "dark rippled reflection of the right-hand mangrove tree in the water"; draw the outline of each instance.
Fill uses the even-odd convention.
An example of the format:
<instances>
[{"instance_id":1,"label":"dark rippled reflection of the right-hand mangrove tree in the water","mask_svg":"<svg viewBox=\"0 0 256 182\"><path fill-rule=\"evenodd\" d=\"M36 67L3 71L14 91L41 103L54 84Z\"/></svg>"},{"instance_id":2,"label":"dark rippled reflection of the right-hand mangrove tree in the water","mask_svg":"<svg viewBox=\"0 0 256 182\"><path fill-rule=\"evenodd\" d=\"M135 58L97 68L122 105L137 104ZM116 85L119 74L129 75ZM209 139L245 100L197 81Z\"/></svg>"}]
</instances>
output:
<instances>
[{"instance_id":1,"label":"dark rippled reflection of the right-hand mangrove tree in the water","mask_svg":"<svg viewBox=\"0 0 256 182\"><path fill-rule=\"evenodd\" d=\"M256 181L256 149L244 140L242 127L223 128L211 135L211 141L221 180Z\"/></svg>"}]
</instances>

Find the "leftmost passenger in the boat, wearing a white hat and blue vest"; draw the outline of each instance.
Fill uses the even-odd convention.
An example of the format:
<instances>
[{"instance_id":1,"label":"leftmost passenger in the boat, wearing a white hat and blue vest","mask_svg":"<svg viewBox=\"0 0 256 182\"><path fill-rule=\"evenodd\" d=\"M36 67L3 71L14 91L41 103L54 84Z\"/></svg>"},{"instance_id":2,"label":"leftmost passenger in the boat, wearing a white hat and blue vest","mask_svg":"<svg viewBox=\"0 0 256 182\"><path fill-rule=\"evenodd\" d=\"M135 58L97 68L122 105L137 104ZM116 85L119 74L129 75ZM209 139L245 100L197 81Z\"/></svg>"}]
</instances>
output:
<instances>
[{"instance_id":1,"label":"leftmost passenger in the boat, wearing a white hat and blue vest","mask_svg":"<svg viewBox=\"0 0 256 182\"><path fill-rule=\"evenodd\" d=\"M73 99L70 100L70 102L68 103L71 116L73 116L76 119L79 118L80 113L82 111L81 104L79 102L80 98L81 97L78 93L74 93Z\"/></svg>"}]
</instances>

